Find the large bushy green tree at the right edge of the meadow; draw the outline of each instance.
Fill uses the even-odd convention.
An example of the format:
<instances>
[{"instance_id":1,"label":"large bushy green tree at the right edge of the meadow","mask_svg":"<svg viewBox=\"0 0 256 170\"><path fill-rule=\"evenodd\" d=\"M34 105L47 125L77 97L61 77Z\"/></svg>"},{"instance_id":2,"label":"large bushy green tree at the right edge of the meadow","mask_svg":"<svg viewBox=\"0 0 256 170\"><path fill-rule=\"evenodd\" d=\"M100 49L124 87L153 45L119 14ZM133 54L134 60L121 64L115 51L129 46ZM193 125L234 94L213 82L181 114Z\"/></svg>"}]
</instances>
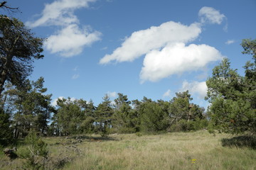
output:
<instances>
[{"instance_id":1,"label":"large bushy green tree at the right edge of the meadow","mask_svg":"<svg viewBox=\"0 0 256 170\"><path fill-rule=\"evenodd\" d=\"M230 68L227 58L213 69L206 84L210 130L238 134L256 132L256 40L243 40L243 54L253 55L245 64L245 77Z\"/></svg>"}]
</instances>

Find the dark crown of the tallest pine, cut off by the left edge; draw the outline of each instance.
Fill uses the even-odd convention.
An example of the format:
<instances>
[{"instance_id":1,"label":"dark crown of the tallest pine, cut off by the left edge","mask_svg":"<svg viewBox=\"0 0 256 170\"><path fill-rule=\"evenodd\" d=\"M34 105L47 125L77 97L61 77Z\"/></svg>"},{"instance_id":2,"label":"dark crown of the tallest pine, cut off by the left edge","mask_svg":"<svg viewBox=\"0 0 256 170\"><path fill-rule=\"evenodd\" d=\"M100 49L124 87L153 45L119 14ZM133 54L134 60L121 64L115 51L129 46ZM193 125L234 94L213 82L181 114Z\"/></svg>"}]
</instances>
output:
<instances>
[{"instance_id":1,"label":"dark crown of the tallest pine, cut off by the left edge","mask_svg":"<svg viewBox=\"0 0 256 170\"><path fill-rule=\"evenodd\" d=\"M21 21L0 15L0 94L6 81L23 86L33 71L33 59L43 58L42 46L43 39L35 38Z\"/></svg>"}]
</instances>

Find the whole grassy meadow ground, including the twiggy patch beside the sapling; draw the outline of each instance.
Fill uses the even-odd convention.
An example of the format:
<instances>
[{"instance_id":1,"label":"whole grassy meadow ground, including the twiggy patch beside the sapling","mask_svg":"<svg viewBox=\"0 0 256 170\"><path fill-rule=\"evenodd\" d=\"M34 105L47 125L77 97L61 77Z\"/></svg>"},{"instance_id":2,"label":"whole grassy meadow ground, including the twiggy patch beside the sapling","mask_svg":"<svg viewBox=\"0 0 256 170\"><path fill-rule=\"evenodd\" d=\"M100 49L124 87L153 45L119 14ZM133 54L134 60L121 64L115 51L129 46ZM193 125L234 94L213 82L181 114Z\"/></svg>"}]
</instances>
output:
<instances>
[{"instance_id":1,"label":"whole grassy meadow ground, including the twiggy patch beside the sapling","mask_svg":"<svg viewBox=\"0 0 256 170\"><path fill-rule=\"evenodd\" d=\"M256 149L222 147L230 135L206 131L161 135L48 137L48 169L256 169ZM0 155L0 169L20 169L21 159Z\"/></svg>"}]
</instances>

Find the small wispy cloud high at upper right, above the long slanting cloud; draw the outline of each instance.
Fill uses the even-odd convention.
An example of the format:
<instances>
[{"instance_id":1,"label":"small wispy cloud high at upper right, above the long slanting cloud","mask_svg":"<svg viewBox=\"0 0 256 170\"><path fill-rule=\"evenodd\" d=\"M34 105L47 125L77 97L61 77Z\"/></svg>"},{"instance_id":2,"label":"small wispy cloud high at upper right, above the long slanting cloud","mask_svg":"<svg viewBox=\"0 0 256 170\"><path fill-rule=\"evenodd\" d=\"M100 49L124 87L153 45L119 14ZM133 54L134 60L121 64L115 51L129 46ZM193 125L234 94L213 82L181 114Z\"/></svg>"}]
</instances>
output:
<instances>
[{"instance_id":1,"label":"small wispy cloud high at upper right, above the long slanting cloud","mask_svg":"<svg viewBox=\"0 0 256 170\"><path fill-rule=\"evenodd\" d=\"M208 6L203 6L198 13L199 18L201 19L201 23L222 23L225 15L215 10L215 8L211 8Z\"/></svg>"}]
</instances>

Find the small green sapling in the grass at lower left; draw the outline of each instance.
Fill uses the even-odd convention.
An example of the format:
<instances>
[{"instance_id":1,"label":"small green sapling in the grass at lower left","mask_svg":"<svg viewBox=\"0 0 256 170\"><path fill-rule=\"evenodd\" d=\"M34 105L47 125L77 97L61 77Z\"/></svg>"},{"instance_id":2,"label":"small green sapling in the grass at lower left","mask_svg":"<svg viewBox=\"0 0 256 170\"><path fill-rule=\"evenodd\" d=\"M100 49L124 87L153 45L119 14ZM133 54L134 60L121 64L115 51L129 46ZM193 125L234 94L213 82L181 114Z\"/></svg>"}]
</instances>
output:
<instances>
[{"instance_id":1,"label":"small green sapling in the grass at lower left","mask_svg":"<svg viewBox=\"0 0 256 170\"><path fill-rule=\"evenodd\" d=\"M25 147L18 149L18 156L26 159L23 169L45 169L48 159L47 144L36 132L30 132L25 138Z\"/></svg>"}]
</instances>

